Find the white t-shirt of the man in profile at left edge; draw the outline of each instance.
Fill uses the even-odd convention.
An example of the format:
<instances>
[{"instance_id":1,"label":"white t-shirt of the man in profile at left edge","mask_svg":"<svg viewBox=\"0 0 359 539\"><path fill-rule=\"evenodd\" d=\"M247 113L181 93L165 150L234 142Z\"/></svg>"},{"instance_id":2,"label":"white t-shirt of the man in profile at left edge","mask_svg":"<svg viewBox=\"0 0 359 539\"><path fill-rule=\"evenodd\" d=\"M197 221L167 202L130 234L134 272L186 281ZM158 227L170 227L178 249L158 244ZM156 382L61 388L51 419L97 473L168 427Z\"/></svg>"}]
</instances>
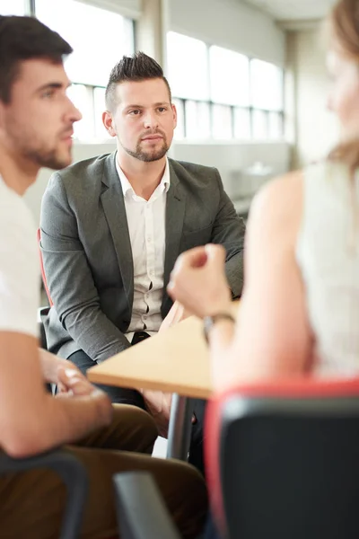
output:
<instances>
[{"instance_id":1,"label":"white t-shirt of the man in profile at left edge","mask_svg":"<svg viewBox=\"0 0 359 539\"><path fill-rule=\"evenodd\" d=\"M31 211L0 176L0 331L38 336L39 278Z\"/></svg>"}]
</instances>

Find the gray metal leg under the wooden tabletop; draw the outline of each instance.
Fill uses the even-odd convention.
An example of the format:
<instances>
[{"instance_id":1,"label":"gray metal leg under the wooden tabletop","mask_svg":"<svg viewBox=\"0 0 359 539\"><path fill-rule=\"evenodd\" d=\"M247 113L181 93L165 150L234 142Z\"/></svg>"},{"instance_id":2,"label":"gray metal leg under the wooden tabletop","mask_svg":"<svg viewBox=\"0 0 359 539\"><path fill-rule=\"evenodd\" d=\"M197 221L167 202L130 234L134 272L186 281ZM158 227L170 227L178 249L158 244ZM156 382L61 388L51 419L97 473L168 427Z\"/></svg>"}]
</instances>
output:
<instances>
[{"instance_id":1,"label":"gray metal leg under the wooden tabletop","mask_svg":"<svg viewBox=\"0 0 359 539\"><path fill-rule=\"evenodd\" d=\"M193 399L173 393L167 446L167 458L188 460L192 429Z\"/></svg>"}]
</instances>

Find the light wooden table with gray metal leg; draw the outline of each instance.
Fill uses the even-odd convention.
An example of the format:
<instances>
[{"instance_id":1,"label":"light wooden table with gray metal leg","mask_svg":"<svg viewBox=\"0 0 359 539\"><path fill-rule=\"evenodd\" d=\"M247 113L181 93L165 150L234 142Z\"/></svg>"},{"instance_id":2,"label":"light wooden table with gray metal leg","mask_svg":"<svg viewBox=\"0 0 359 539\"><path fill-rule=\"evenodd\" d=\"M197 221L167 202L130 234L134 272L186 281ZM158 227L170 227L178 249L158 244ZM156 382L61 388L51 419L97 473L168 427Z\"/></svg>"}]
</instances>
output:
<instances>
[{"instance_id":1,"label":"light wooden table with gray metal leg","mask_svg":"<svg viewBox=\"0 0 359 539\"><path fill-rule=\"evenodd\" d=\"M96 384L174 393L167 456L187 459L191 431L191 398L212 393L209 354L203 322L191 316L167 331L143 340L88 370Z\"/></svg>"}]
</instances>

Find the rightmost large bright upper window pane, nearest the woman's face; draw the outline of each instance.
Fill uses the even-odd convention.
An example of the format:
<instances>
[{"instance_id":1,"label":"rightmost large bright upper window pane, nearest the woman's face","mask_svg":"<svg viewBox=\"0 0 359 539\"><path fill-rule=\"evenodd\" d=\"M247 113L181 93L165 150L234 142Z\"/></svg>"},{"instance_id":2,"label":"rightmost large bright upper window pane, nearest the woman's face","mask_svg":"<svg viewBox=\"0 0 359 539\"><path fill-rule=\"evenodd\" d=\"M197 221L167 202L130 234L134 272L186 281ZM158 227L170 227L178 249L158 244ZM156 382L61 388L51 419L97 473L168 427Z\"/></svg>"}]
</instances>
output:
<instances>
[{"instance_id":1,"label":"rightmost large bright upper window pane, nearest the woman's face","mask_svg":"<svg viewBox=\"0 0 359 539\"><path fill-rule=\"evenodd\" d=\"M262 60L250 62L251 102L253 107L283 110L283 70Z\"/></svg>"}]
</instances>

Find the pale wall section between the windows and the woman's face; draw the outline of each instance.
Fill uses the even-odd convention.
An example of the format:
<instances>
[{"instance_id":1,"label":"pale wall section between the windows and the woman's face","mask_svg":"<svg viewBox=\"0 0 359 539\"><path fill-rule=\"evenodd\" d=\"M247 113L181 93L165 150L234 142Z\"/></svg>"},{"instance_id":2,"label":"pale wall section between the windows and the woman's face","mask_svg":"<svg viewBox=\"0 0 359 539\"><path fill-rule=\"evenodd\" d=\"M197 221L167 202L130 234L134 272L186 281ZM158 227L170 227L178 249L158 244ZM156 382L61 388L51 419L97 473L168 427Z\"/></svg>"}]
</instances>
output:
<instances>
[{"instance_id":1,"label":"pale wall section between the windows and the woman's face","mask_svg":"<svg viewBox=\"0 0 359 539\"><path fill-rule=\"evenodd\" d=\"M327 110L328 73L320 27L290 32L287 68L293 75L293 107L288 99L288 118L293 120L293 168L328 154L338 138L337 121ZM288 89L288 88L287 88ZM289 96L290 98L290 96Z\"/></svg>"}]
</instances>

